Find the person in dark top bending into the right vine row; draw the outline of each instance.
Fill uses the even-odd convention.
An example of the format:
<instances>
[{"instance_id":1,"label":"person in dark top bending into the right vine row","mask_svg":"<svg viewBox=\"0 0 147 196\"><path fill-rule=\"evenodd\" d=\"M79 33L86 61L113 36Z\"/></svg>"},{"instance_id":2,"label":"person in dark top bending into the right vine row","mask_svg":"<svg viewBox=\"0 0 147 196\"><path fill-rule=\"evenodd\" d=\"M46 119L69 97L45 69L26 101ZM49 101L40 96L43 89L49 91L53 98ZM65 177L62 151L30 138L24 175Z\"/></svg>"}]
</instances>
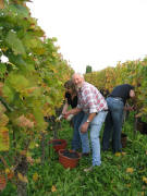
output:
<instances>
[{"instance_id":1,"label":"person in dark top bending into the right vine row","mask_svg":"<svg viewBox=\"0 0 147 196\"><path fill-rule=\"evenodd\" d=\"M107 98L109 112L105 122L102 136L102 150L109 149L109 142L112 135L112 150L119 152L122 150L121 132L123 123L123 112L126 100L135 97L134 87L128 84L119 85L113 88Z\"/></svg>"}]
</instances>

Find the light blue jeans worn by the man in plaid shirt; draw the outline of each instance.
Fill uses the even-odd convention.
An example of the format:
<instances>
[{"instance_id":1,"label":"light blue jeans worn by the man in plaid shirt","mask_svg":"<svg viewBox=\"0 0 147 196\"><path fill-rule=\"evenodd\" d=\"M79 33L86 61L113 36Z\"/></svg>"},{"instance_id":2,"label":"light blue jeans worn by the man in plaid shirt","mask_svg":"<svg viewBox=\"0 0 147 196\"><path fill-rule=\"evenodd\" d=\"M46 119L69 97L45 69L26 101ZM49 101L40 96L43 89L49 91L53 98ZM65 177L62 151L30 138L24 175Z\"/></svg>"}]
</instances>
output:
<instances>
[{"instance_id":1,"label":"light blue jeans worn by the man in plaid shirt","mask_svg":"<svg viewBox=\"0 0 147 196\"><path fill-rule=\"evenodd\" d=\"M106 111L98 112L98 114L94 118L94 120L89 124L90 142L91 142L91 149L93 149L93 166L101 164L99 133L100 133L102 123L105 122L106 115L107 115ZM87 118L88 118L88 114L85 113L83 121L81 123L81 126L83 123L87 121ZM89 140L88 140L88 132L81 133L81 126L79 126L79 134L82 138L83 152L89 152L90 148L89 148Z\"/></svg>"}]
</instances>

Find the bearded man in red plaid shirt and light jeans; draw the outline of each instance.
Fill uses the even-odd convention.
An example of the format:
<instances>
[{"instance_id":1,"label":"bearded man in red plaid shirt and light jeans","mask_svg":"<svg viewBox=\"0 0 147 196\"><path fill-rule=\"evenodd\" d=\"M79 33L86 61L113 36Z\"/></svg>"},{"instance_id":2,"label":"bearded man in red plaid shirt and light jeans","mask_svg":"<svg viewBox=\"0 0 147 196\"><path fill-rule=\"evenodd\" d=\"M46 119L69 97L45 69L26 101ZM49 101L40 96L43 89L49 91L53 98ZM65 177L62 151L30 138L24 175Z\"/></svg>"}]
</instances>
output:
<instances>
[{"instance_id":1,"label":"bearded man in red plaid shirt and light jeans","mask_svg":"<svg viewBox=\"0 0 147 196\"><path fill-rule=\"evenodd\" d=\"M108 107L100 91L91 84L86 83L82 74L73 74L72 79L77 90L78 103L75 109L68 111L66 114L77 114L84 111L79 134L83 151L89 152L88 128L90 130L93 166L84 170L89 171L93 167L101 164L99 132L106 119Z\"/></svg>"}]
</instances>

